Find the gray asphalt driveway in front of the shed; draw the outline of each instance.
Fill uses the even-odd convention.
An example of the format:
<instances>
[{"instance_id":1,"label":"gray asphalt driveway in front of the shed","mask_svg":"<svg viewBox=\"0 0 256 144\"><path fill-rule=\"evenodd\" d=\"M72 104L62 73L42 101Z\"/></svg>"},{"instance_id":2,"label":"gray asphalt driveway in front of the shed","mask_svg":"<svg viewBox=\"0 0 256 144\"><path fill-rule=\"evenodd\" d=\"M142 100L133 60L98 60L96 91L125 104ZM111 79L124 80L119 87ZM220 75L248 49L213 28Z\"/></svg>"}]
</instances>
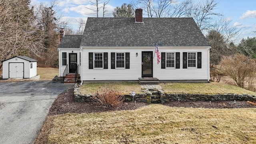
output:
<instances>
[{"instance_id":1,"label":"gray asphalt driveway in front of the shed","mask_svg":"<svg viewBox=\"0 0 256 144\"><path fill-rule=\"evenodd\" d=\"M0 144L32 144L58 94L73 84L0 82Z\"/></svg>"}]
</instances>

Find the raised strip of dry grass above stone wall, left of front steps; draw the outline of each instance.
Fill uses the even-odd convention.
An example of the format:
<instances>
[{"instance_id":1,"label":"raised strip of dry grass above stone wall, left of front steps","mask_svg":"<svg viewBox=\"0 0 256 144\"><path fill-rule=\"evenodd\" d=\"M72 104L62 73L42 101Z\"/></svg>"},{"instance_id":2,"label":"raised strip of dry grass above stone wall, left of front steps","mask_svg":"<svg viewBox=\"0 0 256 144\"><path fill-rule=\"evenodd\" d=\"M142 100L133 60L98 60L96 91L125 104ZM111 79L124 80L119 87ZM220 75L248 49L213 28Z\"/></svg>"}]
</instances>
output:
<instances>
[{"instance_id":1,"label":"raised strip of dry grass above stone wall, left of front steps","mask_svg":"<svg viewBox=\"0 0 256 144\"><path fill-rule=\"evenodd\" d=\"M95 94L97 91L100 91L103 88L115 89L122 94L131 94L132 91L142 93L140 84L136 82L88 83L83 84L80 88L82 94Z\"/></svg>"}]
</instances>

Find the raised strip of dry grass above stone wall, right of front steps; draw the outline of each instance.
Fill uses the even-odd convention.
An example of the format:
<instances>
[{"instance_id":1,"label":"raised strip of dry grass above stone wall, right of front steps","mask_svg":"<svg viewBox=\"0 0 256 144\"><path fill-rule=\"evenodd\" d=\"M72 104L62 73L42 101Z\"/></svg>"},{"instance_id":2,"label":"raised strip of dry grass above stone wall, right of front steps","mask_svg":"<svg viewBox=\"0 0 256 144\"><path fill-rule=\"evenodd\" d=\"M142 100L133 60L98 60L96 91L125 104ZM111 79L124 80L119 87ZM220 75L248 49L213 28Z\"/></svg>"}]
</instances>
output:
<instances>
[{"instance_id":1,"label":"raised strip of dry grass above stone wall, right of front steps","mask_svg":"<svg viewBox=\"0 0 256 144\"><path fill-rule=\"evenodd\" d=\"M166 93L187 93L187 94L250 94L256 92L245 90L237 86L220 82L211 83L166 83L160 84Z\"/></svg>"}]
</instances>

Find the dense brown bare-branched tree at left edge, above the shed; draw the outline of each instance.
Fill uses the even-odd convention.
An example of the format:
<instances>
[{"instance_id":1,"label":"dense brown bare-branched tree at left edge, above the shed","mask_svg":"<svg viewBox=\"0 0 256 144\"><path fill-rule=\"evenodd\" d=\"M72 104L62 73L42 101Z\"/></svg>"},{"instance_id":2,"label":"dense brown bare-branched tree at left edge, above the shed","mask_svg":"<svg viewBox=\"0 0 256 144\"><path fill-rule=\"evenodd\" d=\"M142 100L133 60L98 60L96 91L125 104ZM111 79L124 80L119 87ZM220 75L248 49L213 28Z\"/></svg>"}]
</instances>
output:
<instances>
[{"instance_id":1,"label":"dense brown bare-branched tree at left edge, above the shed","mask_svg":"<svg viewBox=\"0 0 256 144\"><path fill-rule=\"evenodd\" d=\"M0 0L0 61L30 53L39 56L42 35L29 4L30 0Z\"/></svg>"}]
</instances>

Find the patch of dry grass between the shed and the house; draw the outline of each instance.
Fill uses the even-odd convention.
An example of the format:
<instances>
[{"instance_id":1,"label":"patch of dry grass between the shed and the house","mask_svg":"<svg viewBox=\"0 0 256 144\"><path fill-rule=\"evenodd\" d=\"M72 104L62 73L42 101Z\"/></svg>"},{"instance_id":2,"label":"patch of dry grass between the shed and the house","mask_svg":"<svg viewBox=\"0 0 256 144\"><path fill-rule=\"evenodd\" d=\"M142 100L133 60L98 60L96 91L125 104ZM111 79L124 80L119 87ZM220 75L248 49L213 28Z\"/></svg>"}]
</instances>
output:
<instances>
[{"instance_id":1,"label":"patch of dry grass between the shed and the house","mask_svg":"<svg viewBox=\"0 0 256 144\"><path fill-rule=\"evenodd\" d=\"M59 75L58 68L37 68L37 74L40 75L40 80L52 80L54 76Z\"/></svg>"}]
</instances>

